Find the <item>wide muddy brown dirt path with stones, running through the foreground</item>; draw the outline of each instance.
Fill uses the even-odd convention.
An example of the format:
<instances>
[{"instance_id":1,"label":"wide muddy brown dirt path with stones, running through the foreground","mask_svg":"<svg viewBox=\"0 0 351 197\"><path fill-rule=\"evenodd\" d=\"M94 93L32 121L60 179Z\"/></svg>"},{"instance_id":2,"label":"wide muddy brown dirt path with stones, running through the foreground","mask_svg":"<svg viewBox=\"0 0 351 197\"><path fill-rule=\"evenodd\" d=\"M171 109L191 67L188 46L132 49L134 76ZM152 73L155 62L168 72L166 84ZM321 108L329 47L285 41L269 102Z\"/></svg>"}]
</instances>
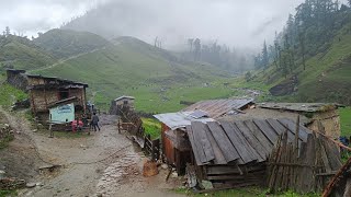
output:
<instances>
[{"instance_id":1,"label":"wide muddy brown dirt path with stones, running through the foreground","mask_svg":"<svg viewBox=\"0 0 351 197\"><path fill-rule=\"evenodd\" d=\"M61 165L53 172L45 171L27 179L38 186L21 189L19 196L182 196L169 192L179 185L179 179L166 183L166 170L154 177L141 175L146 159L124 134L118 134L115 116L101 115L101 131L92 131L90 136L77 134L82 136L63 138L54 135L54 138L48 138L47 132L33 132L25 118L2 108L0 113L5 115L16 132L21 132L20 138L27 139L21 143L27 143L32 151L31 159L35 160L34 165L15 165L22 164L27 171Z\"/></svg>"}]
</instances>

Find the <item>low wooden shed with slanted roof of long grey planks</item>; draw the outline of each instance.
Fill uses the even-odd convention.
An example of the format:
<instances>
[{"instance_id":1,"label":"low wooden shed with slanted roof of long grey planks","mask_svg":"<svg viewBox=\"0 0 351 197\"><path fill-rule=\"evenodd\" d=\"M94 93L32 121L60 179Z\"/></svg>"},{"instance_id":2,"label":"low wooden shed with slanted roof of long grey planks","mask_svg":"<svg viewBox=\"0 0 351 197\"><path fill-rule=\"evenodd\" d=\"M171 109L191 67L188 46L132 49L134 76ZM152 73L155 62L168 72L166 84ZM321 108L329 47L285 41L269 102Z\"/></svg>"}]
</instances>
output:
<instances>
[{"instance_id":1,"label":"low wooden shed with slanted roof of long grey planks","mask_svg":"<svg viewBox=\"0 0 351 197\"><path fill-rule=\"evenodd\" d=\"M312 131L299 125L298 142ZM263 185L267 160L280 135L295 139L296 124L290 119L194 121L186 126L196 179L211 181L216 188Z\"/></svg>"}]
</instances>

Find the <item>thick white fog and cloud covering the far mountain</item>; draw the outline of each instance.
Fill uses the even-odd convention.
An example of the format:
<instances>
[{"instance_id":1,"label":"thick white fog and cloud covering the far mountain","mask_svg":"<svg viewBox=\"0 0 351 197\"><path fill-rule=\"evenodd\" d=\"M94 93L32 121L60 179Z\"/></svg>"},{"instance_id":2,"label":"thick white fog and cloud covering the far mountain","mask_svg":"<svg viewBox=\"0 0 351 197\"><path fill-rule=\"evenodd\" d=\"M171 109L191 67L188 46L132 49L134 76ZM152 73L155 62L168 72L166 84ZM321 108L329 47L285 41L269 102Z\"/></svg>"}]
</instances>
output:
<instances>
[{"instance_id":1,"label":"thick white fog and cloud covering the far mountain","mask_svg":"<svg viewBox=\"0 0 351 197\"><path fill-rule=\"evenodd\" d=\"M158 37L170 48L188 38L217 40L239 48L261 46L280 30L301 0L128 0L110 1L64 25L103 35Z\"/></svg>"}]
</instances>

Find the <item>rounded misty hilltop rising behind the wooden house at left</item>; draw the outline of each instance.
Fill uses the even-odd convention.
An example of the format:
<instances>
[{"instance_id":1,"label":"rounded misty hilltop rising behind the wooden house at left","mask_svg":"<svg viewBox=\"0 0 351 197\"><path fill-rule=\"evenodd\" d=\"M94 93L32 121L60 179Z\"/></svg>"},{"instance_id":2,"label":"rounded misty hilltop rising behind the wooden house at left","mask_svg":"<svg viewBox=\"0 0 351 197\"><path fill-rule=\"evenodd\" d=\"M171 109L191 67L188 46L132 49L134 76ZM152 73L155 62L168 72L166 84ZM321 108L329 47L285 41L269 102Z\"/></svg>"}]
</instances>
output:
<instances>
[{"instance_id":1,"label":"rounded misty hilltop rising behind the wooden house at left","mask_svg":"<svg viewBox=\"0 0 351 197\"><path fill-rule=\"evenodd\" d=\"M68 58L89 53L110 44L106 39L92 33L59 28L50 30L33 42L56 58Z\"/></svg>"}]
</instances>

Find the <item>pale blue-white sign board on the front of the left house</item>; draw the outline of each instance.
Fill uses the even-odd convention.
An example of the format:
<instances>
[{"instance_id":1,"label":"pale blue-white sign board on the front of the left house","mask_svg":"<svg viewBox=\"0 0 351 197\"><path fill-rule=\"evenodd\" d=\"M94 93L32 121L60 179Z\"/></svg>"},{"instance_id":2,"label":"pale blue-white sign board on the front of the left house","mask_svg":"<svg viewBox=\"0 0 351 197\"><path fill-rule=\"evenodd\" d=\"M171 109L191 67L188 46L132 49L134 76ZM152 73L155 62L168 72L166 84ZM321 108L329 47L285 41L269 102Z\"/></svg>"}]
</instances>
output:
<instances>
[{"instance_id":1,"label":"pale blue-white sign board on the front of the left house","mask_svg":"<svg viewBox=\"0 0 351 197\"><path fill-rule=\"evenodd\" d=\"M75 120L75 105L67 104L50 108L52 123L66 123Z\"/></svg>"}]
</instances>

